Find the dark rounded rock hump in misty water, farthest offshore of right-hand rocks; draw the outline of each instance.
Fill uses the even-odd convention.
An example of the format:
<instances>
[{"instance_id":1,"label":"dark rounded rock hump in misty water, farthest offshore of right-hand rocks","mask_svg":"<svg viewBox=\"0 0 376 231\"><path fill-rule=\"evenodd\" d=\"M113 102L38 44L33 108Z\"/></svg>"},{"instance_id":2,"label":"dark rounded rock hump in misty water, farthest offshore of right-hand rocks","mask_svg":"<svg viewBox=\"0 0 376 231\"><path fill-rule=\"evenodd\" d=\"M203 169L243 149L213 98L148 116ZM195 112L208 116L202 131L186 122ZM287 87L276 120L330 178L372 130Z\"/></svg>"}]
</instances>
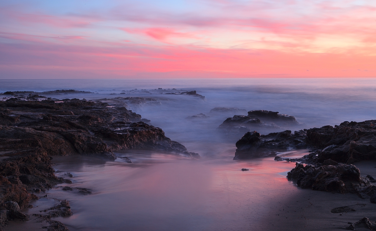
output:
<instances>
[{"instance_id":1,"label":"dark rounded rock hump in misty water, farthest offshore of right-hand rocks","mask_svg":"<svg viewBox=\"0 0 376 231\"><path fill-rule=\"evenodd\" d=\"M299 124L294 116L279 114L267 110L253 110L248 112L249 117L259 118L265 122L272 122L277 125L297 125Z\"/></svg>"}]
</instances>

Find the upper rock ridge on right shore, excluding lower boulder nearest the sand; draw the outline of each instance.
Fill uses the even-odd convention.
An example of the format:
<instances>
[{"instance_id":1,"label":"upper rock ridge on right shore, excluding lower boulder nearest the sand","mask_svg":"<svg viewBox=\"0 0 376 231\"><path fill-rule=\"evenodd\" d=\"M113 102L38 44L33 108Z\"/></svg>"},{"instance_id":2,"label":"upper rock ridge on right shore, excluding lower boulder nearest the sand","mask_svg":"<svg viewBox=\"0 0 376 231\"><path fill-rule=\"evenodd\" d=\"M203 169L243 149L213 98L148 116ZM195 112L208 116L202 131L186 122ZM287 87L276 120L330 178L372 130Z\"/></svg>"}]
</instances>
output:
<instances>
[{"instance_id":1,"label":"upper rock ridge on right shore, excluding lower boulder nearest the sand","mask_svg":"<svg viewBox=\"0 0 376 231\"><path fill-rule=\"evenodd\" d=\"M327 125L295 131L294 134L291 131L258 134L246 133L237 142L237 153L242 153L236 154L239 159L270 156L273 151L302 148L314 150L301 159L305 163L323 163L331 159L351 164L360 160L376 159L376 120L345 121L335 127Z\"/></svg>"}]
</instances>

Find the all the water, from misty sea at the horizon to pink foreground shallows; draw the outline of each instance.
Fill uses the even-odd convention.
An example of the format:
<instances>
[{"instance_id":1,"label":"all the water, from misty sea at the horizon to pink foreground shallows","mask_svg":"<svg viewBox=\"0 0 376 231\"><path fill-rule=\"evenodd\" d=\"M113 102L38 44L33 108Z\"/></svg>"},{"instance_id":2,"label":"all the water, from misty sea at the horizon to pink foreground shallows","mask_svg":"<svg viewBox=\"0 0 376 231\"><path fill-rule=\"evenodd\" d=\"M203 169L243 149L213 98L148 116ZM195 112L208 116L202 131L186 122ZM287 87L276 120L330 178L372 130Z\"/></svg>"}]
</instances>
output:
<instances>
[{"instance_id":1,"label":"all the water, from misty sea at the horizon to pink foreground shallows","mask_svg":"<svg viewBox=\"0 0 376 231\"><path fill-rule=\"evenodd\" d=\"M205 100L140 92L120 95L136 88L196 90ZM96 92L53 96L59 99L155 98L161 102L159 106L128 108L150 119L188 151L202 156L201 160L189 160L153 151L117 153L129 157L132 164L121 159L54 157L57 171L73 174L69 186L93 192L87 196L61 188L47 192L70 201L73 216L58 219L71 231L265 228L265 220L281 198L289 201L302 193L286 179L294 163L275 162L273 158L233 161L235 142L240 137L224 137L216 129L232 115L211 115L209 111L214 107L278 111L295 116L301 123L286 127L291 130L364 121L376 115L375 79L0 80L2 92L56 89ZM210 118L185 119L199 113ZM279 155L295 158L307 151ZM250 170L242 172L242 168Z\"/></svg>"}]
</instances>

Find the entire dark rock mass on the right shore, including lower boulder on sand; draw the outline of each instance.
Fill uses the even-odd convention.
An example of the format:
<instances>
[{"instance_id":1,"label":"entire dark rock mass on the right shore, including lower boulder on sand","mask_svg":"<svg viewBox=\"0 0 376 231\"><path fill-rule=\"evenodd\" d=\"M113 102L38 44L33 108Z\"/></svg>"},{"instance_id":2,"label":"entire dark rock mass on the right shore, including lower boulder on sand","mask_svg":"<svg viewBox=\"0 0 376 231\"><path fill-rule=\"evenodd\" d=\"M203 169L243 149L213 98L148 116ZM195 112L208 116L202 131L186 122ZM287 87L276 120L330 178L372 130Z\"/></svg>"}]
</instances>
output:
<instances>
[{"instance_id":1,"label":"entire dark rock mass on the right shore, including lower boulder on sand","mask_svg":"<svg viewBox=\"0 0 376 231\"><path fill-rule=\"evenodd\" d=\"M311 148L310 154L294 160L296 167L288 172L288 179L296 180L302 188L357 193L375 203L376 186L370 183L376 180L371 175L362 177L359 169L352 165L360 160L376 159L375 124L376 120L345 121L335 127L327 125L294 134L289 130L268 135L248 132L236 143L234 159L276 156L277 152L289 149ZM275 160L283 158L276 156Z\"/></svg>"}]
</instances>

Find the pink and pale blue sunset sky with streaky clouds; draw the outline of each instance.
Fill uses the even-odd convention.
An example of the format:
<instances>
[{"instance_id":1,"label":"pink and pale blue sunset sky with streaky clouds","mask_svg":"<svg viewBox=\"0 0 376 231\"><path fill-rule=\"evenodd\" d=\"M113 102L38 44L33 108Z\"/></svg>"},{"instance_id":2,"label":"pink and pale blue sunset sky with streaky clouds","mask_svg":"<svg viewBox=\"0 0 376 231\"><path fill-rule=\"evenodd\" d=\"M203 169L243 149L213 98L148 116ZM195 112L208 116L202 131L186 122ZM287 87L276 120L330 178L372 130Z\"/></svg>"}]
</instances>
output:
<instances>
[{"instance_id":1,"label":"pink and pale blue sunset sky with streaky clouds","mask_svg":"<svg viewBox=\"0 0 376 231\"><path fill-rule=\"evenodd\" d=\"M0 79L250 77L376 77L376 1L0 2Z\"/></svg>"}]
</instances>

